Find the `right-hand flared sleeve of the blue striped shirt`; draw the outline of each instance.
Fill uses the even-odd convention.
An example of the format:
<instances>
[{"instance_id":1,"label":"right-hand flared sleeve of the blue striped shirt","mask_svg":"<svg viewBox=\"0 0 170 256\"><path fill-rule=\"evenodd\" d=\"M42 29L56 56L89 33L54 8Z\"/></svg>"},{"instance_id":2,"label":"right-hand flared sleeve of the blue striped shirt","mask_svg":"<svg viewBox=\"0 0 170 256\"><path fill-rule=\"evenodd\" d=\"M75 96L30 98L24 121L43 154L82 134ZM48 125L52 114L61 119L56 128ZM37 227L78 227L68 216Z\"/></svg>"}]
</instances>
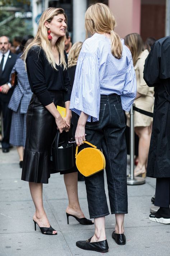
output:
<instances>
[{"instance_id":1,"label":"right-hand flared sleeve of the blue striped shirt","mask_svg":"<svg viewBox=\"0 0 170 256\"><path fill-rule=\"evenodd\" d=\"M137 93L136 75L133 67L132 57L127 62L126 77L123 93L121 95L122 108L129 112Z\"/></svg>"}]
</instances>

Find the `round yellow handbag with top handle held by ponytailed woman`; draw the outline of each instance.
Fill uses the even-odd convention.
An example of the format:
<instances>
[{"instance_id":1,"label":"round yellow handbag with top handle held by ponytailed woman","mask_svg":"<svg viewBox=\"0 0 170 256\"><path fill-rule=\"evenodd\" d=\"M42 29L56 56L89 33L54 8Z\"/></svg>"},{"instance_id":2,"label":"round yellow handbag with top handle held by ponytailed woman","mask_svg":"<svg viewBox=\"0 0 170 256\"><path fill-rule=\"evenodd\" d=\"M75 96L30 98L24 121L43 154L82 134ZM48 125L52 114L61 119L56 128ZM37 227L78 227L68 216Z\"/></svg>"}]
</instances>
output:
<instances>
[{"instance_id":1,"label":"round yellow handbag with top handle held by ponytailed woman","mask_svg":"<svg viewBox=\"0 0 170 256\"><path fill-rule=\"evenodd\" d=\"M92 148L84 148L78 153L79 147L76 147L76 166L82 175L89 177L102 171L106 166L106 161L100 149L97 149L90 142L84 141L84 143L90 145Z\"/></svg>"}]
</instances>

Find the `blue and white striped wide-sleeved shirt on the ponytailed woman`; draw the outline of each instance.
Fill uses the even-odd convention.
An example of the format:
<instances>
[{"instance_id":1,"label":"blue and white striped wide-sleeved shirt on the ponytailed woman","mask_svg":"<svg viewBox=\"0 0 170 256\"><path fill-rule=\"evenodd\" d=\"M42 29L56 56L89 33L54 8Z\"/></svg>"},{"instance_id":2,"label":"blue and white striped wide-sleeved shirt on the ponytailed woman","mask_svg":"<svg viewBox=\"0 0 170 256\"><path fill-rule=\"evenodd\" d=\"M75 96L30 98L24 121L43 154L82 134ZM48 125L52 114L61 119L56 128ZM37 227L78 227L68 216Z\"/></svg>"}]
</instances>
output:
<instances>
[{"instance_id":1,"label":"blue and white striped wide-sleeved shirt on the ponytailed woman","mask_svg":"<svg viewBox=\"0 0 170 256\"><path fill-rule=\"evenodd\" d=\"M85 40L77 62L70 109L88 120L99 120L100 95L121 95L122 108L129 111L136 97L136 76L132 55L124 45L122 58L116 59L110 50L110 39L95 33Z\"/></svg>"}]
</instances>

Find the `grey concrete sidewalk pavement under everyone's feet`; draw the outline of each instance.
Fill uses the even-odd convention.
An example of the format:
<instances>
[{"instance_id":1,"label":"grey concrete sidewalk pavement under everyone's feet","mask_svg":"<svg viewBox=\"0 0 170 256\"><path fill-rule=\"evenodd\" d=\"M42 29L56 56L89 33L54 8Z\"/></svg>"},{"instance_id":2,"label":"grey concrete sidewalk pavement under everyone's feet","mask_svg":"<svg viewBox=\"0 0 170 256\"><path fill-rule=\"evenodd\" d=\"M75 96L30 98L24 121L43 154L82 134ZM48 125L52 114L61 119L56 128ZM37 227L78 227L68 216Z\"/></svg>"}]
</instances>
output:
<instances>
[{"instance_id":1,"label":"grey concrete sidewalk pavement under everyone's feet","mask_svg":"<svg viewBox=\"0 0 170 256\"><path fill-rule=\"evenodd\" d=\"M78 189L82 211L89 218L84 181L78 182ZM108 193L107 186L105 189ZM124 246L115 243L112 239L115 218L114 215L106 216L109 252L105 255L170 255L170 225L155 223L148 218L154 193L155 179L146 178L146 184L128 186L129 214L124 221L127 243ZM72 217L67 225L65 209L68 200L63 175L51 175L49 184L44 185L43 198L50 224L57 229L58 235L43 235L38 226L34 231L34 205L28 183L21 180L16 148L9 153L0 150L0 256L104 255L76 247L76 241L94 234L94 225L80 225Z\"/></svg>"}]
</instances>

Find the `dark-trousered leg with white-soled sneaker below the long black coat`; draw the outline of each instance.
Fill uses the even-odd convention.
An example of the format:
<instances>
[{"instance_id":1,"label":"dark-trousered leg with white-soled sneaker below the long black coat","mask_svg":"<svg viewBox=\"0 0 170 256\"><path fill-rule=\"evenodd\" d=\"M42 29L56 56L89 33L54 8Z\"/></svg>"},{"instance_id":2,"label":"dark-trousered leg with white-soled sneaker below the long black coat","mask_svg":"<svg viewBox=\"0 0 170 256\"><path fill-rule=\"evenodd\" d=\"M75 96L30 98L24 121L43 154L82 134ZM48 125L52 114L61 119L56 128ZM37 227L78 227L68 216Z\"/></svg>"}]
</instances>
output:
<instances>
[{"instance_id":1,"label":"dark-trousered leg with white-soled sneaker below the long black coat","mask_svg":"<svg viewBox=\"0 0 170 256\"><path fill-rule=\"evenodd\" d=\"M150 214L149 219L162 224L170 224L170 178L156 178L155 206L159 210Z\"/></svg>"}]
</instances>

